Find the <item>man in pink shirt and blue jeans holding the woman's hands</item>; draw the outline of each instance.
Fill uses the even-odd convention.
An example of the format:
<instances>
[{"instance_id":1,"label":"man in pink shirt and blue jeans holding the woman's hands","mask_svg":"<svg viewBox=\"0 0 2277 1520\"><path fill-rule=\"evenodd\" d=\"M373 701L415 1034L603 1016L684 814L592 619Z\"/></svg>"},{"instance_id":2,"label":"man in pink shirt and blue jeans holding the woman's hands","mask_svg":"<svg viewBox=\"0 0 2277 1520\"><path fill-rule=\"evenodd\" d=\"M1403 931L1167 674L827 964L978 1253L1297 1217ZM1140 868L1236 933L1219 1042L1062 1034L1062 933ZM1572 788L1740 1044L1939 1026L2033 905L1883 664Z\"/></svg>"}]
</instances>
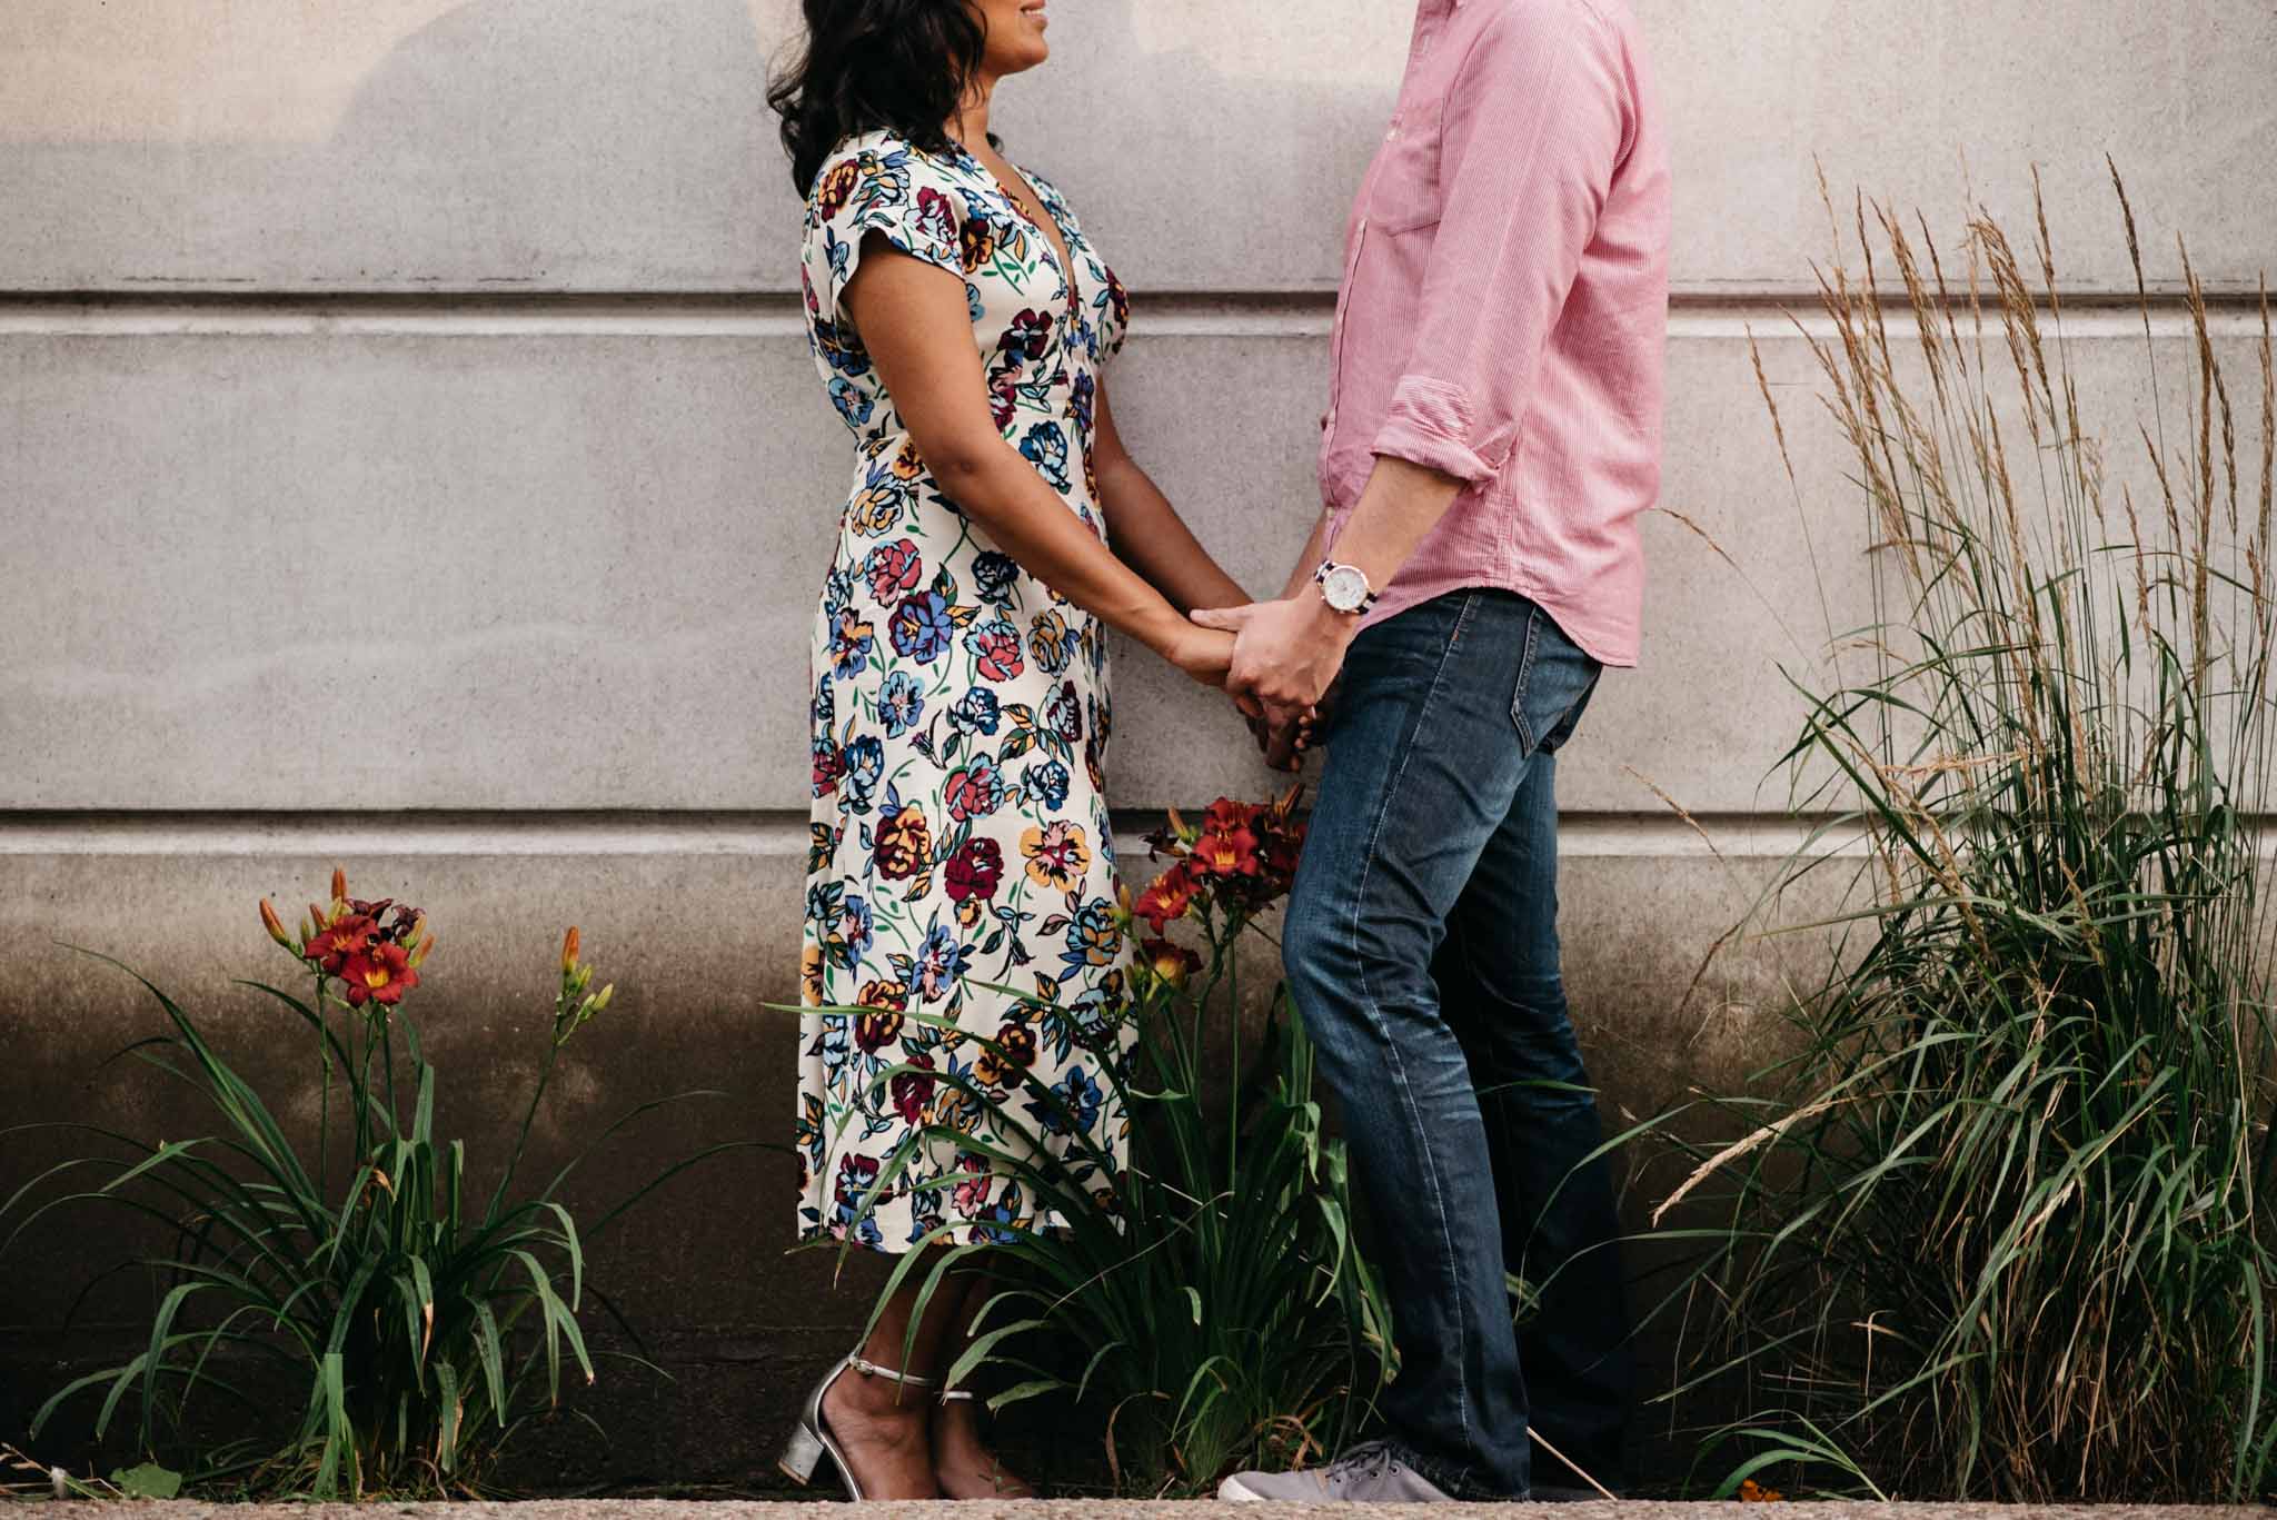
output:
<instances>
[{"instance_id":1,"label":"man in pink shirt and blue jeans holding the woman's hands","mask_svg":"<svg viewBox=\"0 0 2277 1520\"><path fill-rule=\"evenodd\" d=\"M1284 955L1400 1372L1384 1443L1220 1497L1619 1484L1628 1319L1605 1164L1583 1164L1553 775L1603 665L1637 661L1667 244L1626 0L1421 0L1346 242L1325 510L1280 602L1195 613L1239 634L1227 686L1277 761L1341 672ZM1505 1269L1548 1278L1523 1333Z\"/></svg>"}]
</instances>

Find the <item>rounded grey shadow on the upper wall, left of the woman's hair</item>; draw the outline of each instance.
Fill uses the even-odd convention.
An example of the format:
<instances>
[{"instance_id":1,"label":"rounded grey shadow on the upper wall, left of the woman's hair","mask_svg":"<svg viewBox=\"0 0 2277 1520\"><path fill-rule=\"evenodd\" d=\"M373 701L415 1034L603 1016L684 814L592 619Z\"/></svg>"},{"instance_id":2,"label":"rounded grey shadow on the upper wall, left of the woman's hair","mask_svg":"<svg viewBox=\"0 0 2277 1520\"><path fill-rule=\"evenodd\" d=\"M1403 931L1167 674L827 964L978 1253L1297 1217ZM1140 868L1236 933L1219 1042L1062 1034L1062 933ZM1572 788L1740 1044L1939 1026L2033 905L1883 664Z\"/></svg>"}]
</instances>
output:
<instances>
[{"instance_id":1,"label":"rounded grey shadow on the upper wall, left of the woman's hair","mask_svg":"<svg viewBox=\"0 0 2277 1520\"><path fill-rule=\"evenodd\" d=\"M765 71L742 0L469 0L355 91L305 228L394 258L351 280L765 280Z\"/></svg>"}]
</instances>

